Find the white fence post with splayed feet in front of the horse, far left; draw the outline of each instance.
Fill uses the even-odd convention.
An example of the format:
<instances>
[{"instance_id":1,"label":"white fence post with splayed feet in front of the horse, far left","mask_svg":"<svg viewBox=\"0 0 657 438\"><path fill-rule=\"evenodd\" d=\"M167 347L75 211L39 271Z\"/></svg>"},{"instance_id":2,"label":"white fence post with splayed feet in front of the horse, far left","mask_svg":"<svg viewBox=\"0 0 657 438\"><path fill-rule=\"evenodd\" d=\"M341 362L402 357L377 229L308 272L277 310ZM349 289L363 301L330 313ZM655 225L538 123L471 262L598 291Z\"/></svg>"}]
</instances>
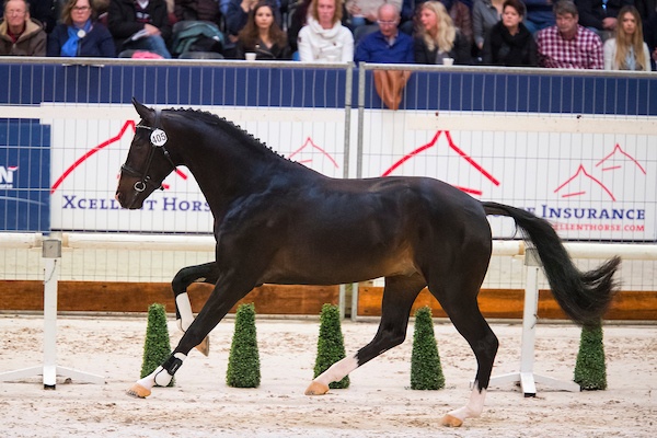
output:
<instances>
[{"instance_id":1,"label":"white fence post with splayed feet in front of the horse, far left","mask_svg":"<svg viewBox=\"0 0 657 438\"><path fill-rule=\"evenodd\" d=\"M88 383L104 383L105 379L102 376L57 366L57 281L59 280L59 262L61 260L61 241L59 239L43 241L43 258L44 364L43 366L1 372L0 381L20 380L42 374L44 389L49 390L56 389L57 376Z\"/></svg>"}]
</instances>

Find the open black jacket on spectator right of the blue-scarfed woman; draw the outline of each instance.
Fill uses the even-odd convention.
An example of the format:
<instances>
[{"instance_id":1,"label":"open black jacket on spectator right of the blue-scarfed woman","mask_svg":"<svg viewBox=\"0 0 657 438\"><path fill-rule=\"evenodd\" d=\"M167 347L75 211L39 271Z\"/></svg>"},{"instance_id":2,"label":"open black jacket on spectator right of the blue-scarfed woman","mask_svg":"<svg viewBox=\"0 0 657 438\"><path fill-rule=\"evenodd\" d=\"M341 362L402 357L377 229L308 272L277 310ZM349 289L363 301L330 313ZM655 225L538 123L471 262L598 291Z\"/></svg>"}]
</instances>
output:
<instances>
[{"instance_id":1,"label":"open black jacket on spectator right of the blue-scarfed woman","mask_svg":"<svg viewBox=\"0 0 657 438\"><path fill-rule=\"evenodd\" d=\"M158 27L162 38L169 43L171 38L171 24L169 24L169 12L164 0L150 0L148 4L150 24ZM143 28L143 24L137 21L134 0L112 0L107 10L107 26L114 37L116 53L123 50L123 43Z\"/></svg>"}]
</instances>

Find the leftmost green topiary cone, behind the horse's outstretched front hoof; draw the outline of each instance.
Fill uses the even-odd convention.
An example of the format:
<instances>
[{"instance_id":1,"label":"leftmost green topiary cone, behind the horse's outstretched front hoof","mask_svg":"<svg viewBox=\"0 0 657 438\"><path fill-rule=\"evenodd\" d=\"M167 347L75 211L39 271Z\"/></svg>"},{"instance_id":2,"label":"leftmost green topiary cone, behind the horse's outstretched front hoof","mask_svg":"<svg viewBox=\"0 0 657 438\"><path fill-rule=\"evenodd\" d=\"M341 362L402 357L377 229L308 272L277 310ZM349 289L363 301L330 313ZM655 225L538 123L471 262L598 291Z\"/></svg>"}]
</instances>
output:
<instances>
[{"instance_id":1,"label":"leftmost green topiary cone, behind the horse's outstretched front hoof","mask_svg":"<svg viewBox=\"0 0 657 438\"><path fill-rule=\"evenodd\" d=\"M141 376L143 378L155 370L171 356L171 341L166 325L166 311L163 304L153 303L148 308L148 325L146 341L143 342L143 360ZM168 387L173 387L175 380L171 379Z\"/></svg>"}]
</instances>

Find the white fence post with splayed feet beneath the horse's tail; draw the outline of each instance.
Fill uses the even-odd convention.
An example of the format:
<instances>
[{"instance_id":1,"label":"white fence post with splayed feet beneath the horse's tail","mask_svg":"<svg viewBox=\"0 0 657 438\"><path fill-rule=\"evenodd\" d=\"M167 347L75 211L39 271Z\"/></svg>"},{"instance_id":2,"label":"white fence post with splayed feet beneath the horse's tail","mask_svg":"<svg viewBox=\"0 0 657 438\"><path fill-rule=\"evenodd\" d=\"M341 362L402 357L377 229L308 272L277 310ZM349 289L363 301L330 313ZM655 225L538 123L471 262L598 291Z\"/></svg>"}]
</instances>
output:
<instances>
[{"instance_id":1,"label":"white fence post with splayed feet beneath the horse's tail","mask_svg":"<svg viewBox=\"0 0 657 438\"><path fill-rule=\"evenodd\" d=\"M546 384L560 391L579 392L575 382L562 381L533 372L535 330L539 310L539 275L541 261L535 249L527 249L525 255L525 308L522 311L522 341L520 348L520 371L491 378L491 384L520 383L526 397L537 395L535 383Z\"/></svg>"}]
</instances>

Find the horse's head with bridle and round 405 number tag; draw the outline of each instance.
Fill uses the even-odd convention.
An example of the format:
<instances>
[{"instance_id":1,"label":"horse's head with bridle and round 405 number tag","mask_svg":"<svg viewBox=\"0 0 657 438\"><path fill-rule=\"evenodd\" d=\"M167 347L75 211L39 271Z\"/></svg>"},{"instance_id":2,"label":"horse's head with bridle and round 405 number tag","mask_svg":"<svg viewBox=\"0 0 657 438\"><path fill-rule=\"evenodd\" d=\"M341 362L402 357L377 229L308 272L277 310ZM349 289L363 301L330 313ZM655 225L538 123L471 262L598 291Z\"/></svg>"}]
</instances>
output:
<instances>
[{"instance_id":1,"label":"horse's head with bridle and round 405 number tag","mask_svg":"<svg viewBox=\"0 0 657 438\"><path fill-rule=\"evenodd\" d=\"M124 208L141 208L146 198L175 169L166 150L168 137L161 127L160 111L148 108L132 99L132 105L141 116L128 158L120 166L116 200Z\"/></svg>"}]
</instances>

